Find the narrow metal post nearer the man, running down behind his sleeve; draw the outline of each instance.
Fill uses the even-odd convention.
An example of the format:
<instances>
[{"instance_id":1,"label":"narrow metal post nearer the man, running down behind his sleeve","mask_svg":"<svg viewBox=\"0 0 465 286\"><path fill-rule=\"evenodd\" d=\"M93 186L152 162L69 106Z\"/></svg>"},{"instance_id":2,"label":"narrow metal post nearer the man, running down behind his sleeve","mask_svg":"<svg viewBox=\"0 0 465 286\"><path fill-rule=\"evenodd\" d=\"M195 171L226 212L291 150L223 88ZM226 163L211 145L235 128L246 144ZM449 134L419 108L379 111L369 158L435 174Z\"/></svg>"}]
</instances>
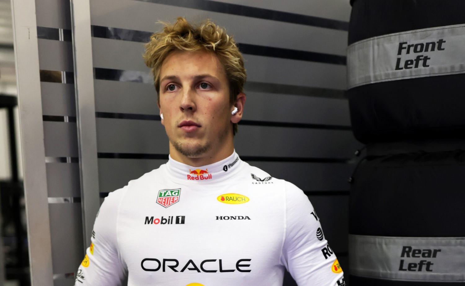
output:
<instances>
[{"instance_id":1,"label":"narrow metal post nearer the man, running down behind his sleeve","mask_svg":"<svg viewBox=\"0 0 465 286\"><path fill-rule=\"evenodd\" d=\"M93 87L92 37L89 1L71 0L74 87L79 137L82 221L85 244L91 244L93 224L99 212L99 175Z\"/></svg>"}]
</instances>

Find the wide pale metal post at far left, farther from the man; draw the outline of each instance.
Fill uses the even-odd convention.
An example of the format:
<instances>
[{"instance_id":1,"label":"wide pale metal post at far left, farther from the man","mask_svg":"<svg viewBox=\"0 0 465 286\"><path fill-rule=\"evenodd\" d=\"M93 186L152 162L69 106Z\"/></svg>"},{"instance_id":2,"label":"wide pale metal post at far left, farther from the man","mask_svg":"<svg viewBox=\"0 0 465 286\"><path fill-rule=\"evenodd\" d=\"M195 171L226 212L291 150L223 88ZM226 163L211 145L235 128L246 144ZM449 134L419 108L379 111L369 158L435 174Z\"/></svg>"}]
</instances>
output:
<instances>
[{"instance_id":1,"label":"wide pale metal post at far left, farther from the man","mask_svg":"<svg viewBox=\"0 0 465 286\"><path fill-rule=\"evenodd\" d=\"M13 0L11 3L31 285L52 285L35 1Z\"/></svg>"}]
</instances>

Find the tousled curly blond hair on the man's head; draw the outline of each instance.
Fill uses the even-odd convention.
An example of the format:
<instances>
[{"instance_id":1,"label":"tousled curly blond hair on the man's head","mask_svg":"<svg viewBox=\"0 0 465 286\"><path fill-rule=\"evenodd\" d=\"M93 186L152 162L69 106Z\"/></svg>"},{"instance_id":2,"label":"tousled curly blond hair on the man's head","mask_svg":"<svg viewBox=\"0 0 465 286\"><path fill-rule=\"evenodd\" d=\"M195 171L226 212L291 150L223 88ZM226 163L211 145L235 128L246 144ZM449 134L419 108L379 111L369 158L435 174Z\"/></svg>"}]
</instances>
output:
<instances>
[{"instance_id":1,"label":"tousled curly blond hair on the man's head","mask_svg":"<svg viewBox=\"0 0 465 286\"><path fill-rule=\"evenodd\" d=\"M152 69L153 82L160 104L160 70L163 61L174 51L208 51L214 53L223 65L229 84L229 103L233 105L237 95L243 92L246 83L244 59L233 37L226 34L210 20L193 26L183 17L174 24L164 23L163 31L153 33L145 44L143 57L147 67ZM237 132L237 123L233 124L233 133Z\"/></svg>"}]
</instances>

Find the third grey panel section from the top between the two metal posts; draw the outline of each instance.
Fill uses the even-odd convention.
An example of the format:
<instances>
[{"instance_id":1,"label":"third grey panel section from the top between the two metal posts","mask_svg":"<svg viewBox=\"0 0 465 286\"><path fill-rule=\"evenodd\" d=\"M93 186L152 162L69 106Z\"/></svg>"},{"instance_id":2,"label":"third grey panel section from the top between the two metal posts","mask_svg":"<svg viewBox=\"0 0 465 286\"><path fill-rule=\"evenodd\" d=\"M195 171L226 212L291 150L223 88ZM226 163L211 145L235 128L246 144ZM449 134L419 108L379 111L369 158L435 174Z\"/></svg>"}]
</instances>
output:
<instances>
[{"instance_id":1,"label":"third grey panel section from the top between the two metal posts","mask_svg":"<svg viewBox=\"0 0 465 286\"><path fill-rule=\"evenodd\" d=\"M74 85L41 82L40 91L44 115L76 116Z\"/></svg>"}]
</instances>

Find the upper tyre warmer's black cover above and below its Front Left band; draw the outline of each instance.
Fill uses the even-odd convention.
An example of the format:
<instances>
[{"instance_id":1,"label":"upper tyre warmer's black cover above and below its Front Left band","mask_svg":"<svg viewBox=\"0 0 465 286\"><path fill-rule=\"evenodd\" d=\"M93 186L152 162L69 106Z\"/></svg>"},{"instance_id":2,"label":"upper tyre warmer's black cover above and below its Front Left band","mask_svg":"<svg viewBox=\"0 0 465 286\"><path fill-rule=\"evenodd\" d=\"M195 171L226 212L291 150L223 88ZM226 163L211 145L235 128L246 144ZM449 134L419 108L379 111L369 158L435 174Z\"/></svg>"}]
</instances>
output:
<instances>
[{"instance_id":1,"label":"upper tyre warmer's black cover above and below its Front Left band","mask_svg":"<svg viewBox=\"0 0 465 286\"><path fill-rule=\"evenodd\" d=\"M355 0L351 3L349 45L390 33L465 24L463 0ZM441 47L450 51L451 40L443 38L445 42ZM397 63L396 69L397 67L421 68L422 64L426 67L438 58L450 58L450 55L445 56L445 53L439 51L441 48L438 39L432 41L435 45L433 52L431 51L433 47L430 46L428 50L421 46L428 52L414 53L412 46L408 50L410 54L405 54L408 44L418 43L414 39L408 41L405 49L401 50L403 54L399 55L399 58L402 59ZM420 46L415 48L420 50ZM392 50L394 52L392 65L395 66L397 49ZM351 64L350 55L348 53L349 78L353 73L351 67L355 67L354 62L357 64L364 61L363 58L355 58ZM415 60L419 55L422 57L414 64L405 63L406 60ZM449 61L454 62L454 59ZM374 57L370 64L377 66L378 62L379 59ZM451 70L457 69L451 68ZM357 140L367 144L465 137L465 113L462 111L465 106L465 73L441 75L432 71L429 73L426 77L404 76L405 78L397 77L389 81L363 84L352 84L349 80L347 96L352 130Z\"/></svg>"}]
</instances>

